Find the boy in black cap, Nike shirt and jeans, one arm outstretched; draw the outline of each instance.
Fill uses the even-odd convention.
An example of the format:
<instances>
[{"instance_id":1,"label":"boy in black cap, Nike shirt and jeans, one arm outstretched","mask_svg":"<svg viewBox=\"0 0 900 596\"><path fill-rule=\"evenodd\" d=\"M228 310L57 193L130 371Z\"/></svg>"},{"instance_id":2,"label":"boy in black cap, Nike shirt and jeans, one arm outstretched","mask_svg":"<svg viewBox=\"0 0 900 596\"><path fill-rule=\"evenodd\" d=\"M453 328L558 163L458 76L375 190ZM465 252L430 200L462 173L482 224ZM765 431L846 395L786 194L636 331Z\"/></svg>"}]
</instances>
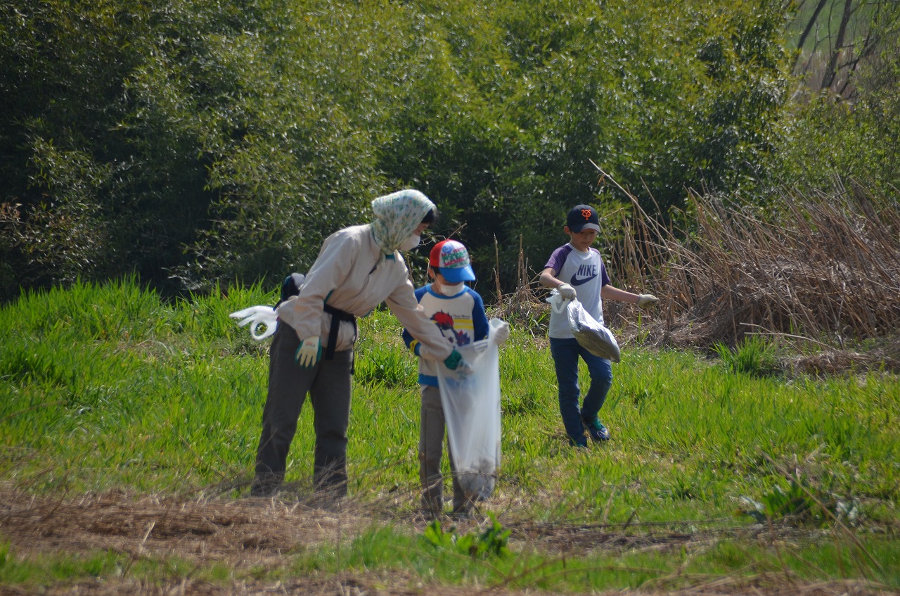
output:
<instances>
[{"instance_id":1,"label":"boy in black cap, Nike shirt and jeans, one arm outstretched","mask_svg":"<svg viewBox=\"0 0 900 596\"><path fill-rule=\"evenodd\" d=\"M590 205L576 205L566 216L563 231L569 242L556 248L541 272L541 284L556 288L566 300L578 300L586 312L603 323L603 299L618 300L648 308L659 302L649 293L630 293L609 284L607 268L597 248L591 244L600 231L597 211ZM559 385L560 413L563 425L575 447L587 447L585 429L595 441L609 440L609 431L600 422L598 412L607 399L613 382L612 366L606 358L594 356L572 336L566 312L550 313L550 353L554 357L556 382ZM590 388L580 402L578 359L584 360L590 372Z\"/></svg>"}]
</instances>

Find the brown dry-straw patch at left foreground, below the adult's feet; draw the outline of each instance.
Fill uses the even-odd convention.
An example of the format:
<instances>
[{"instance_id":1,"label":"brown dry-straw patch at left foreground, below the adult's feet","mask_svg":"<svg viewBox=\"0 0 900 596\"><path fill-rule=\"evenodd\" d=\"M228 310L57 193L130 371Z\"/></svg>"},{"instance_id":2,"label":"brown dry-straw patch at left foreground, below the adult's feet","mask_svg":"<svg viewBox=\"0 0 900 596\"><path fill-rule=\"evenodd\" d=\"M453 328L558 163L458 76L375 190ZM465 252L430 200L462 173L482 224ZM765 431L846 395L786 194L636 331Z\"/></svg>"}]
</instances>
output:
<instances>
[{"instance_id":1,"label":"brown dry-straw patch at left foreground, below the adult's feet","mask_svg":"<svg viewBox=\"0 0 900 596\"><path fill-rule=\"evenodd\" d=\"M368 523L271 499L184 501L119 492L49 499L0 492L0 501L0 533L19 552L114 549L200 564L278 564L298 547L338 541L346 528Z\"/></svg>"}]
</instances>

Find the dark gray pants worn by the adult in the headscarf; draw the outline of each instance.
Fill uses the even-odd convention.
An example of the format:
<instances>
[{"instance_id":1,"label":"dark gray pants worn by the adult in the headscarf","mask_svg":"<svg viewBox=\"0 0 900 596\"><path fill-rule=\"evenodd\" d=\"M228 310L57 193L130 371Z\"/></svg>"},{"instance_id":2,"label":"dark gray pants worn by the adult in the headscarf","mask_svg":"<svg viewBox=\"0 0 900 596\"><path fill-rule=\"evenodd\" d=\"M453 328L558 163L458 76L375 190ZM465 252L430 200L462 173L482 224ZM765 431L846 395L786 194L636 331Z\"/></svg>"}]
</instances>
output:
<instances>
[{"instance_id":1,"label":"dark gray pants worn by the adult in the headscarf","mask_svg":"<svg viewBox=\"0 0 900 596\"><path fill-rule=\"evenodd\" d=\"M314 490L342 497L347 494L347 422L353 350L335 352L331 360L320 358L316 366L302 368L294 360L299 347L300 339L293 328L280 322L269 351L269 389L250 494L271 495L284 482L288 449L309 393L316 432Z\"/></svg>"}]
</instances>

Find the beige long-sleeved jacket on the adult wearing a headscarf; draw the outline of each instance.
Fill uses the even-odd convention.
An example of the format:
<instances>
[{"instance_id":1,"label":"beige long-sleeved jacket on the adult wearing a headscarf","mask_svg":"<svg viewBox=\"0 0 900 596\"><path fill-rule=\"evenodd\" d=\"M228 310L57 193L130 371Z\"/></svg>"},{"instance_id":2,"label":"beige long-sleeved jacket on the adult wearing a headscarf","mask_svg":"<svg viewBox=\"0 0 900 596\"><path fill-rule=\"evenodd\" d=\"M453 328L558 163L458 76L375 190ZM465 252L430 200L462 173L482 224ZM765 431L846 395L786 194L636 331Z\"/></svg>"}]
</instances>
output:
<instances>
[{"instance_id":1,"label":"beige long-sleeved jacket on the adult wearing a headscarf","mask_svg":"<svg viewBox=\"0 0 900 596\"><path fill-rule=\"evenodd\" d=\"M385 256L368 224L351 226L325 239L300 295L278 307L278 318L293 327L300 339L318 335L324 347L331 327L331 315L322 310L326 301L356 317L365 317L387 303L403 327L419 339L421 357L443 360L453 347L428 320L414 291L400 252ZM352 349L353 343L353 325L341 322L335 349Z\"/></svg>"}]
</instances>

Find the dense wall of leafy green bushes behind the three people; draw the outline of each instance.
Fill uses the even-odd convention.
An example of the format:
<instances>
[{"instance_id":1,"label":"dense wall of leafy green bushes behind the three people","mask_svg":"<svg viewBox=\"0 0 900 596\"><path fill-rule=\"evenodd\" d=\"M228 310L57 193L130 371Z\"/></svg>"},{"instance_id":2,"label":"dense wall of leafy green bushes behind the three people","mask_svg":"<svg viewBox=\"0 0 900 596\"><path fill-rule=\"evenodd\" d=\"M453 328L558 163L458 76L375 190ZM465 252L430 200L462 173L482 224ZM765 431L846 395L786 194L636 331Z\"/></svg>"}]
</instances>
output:
<instances>
[{"instance_id":1,"label":"dense wall of leafy green bushes behind the three people","mask_svg":"<svg viewBox=\"0 0 900 596\"><path fill-rule=\"evenodd\" d=\"M624 200L591 159L665 214L755 172L785 101L775 0L7 4L4 299L275 286L399 186L509 289L520 239L533 266L569 206Z\"/></svg>"}]
</instances>

